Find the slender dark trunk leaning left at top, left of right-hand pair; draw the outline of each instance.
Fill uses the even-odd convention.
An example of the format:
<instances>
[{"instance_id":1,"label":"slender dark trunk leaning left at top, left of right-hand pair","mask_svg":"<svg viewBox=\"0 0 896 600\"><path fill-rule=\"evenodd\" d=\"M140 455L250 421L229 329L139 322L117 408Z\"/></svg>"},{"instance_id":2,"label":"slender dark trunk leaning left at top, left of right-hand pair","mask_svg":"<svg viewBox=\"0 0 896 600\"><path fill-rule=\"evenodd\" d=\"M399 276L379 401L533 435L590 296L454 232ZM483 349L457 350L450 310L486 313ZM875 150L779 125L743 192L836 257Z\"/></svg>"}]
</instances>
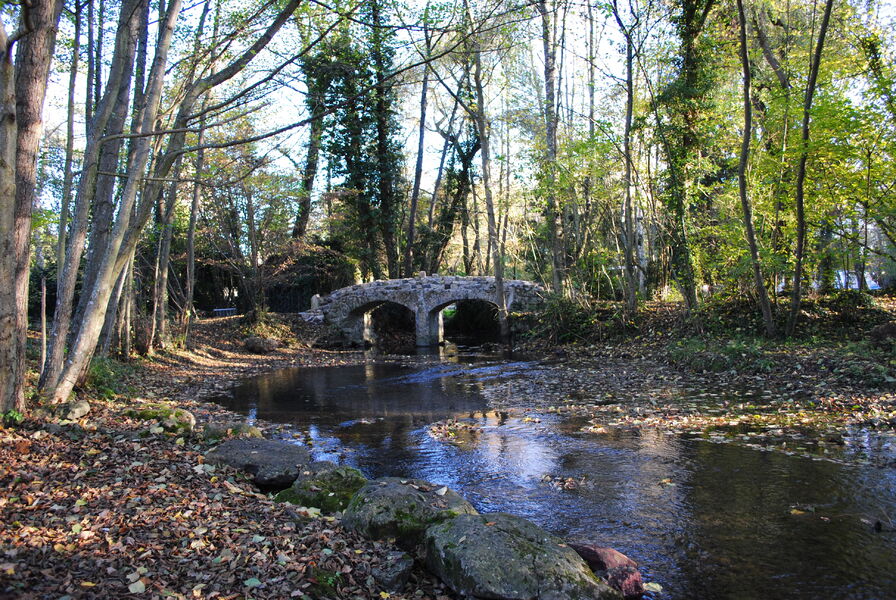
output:
<instances>
[{"instance_id":1,"label":"slender dark trunk leaning left at top, left of right-hand pair","mask_svg":"<svg viewBox=\"0 0 896 600\"><path fill-rule=\"evenodd\" d=\"M756 233L753 230L753 209L750 206L750 198L747 195L747 167L750 161L750 142L753 137L753 101L750 98L752 77L750 74L750 54L747 47L747 17L744 13L743 0L737 0L737 14L740 19L740 61L744 74L744 137L740 147L737 181L744 229L747 233L747 243L750 246L750 261L753 263L753 284L756 286L756 297L759 300L759 308L762 310L765 332L769 337L773 337L777 334L777 328L775 327L775 318L772 315L772 307L768 301L765 281L762 278L759 246L756 243Z\"/></svg>"}]
</instances>

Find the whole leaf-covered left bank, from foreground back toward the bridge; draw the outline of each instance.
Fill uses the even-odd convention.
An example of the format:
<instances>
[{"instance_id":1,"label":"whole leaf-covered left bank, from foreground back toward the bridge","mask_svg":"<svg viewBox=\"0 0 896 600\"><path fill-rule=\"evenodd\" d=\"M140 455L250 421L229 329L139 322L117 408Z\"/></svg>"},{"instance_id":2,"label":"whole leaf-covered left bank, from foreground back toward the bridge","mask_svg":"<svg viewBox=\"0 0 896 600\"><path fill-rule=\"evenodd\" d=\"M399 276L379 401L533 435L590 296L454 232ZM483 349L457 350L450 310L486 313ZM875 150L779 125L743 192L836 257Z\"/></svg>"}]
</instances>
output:
<instances>
[{"instance_id":1,"label":"whole leaf-covered left bank, from foreground back toward the bridge","mask_svg":"<svg viewBox=\"0 0 896 600\"><path fill-rule=\"evenodd\" d=\"M243 419L207 401L241 378L362 358L295 342L253 355L241 333L238 318L202 322L190 352L96 369L83 418L29 415L0 429L0 598L453 597L420 568L410 592L384 589L373 573L392 544L275 503L243 474L205 465L200 435L125 414L185 408L198 432Z\"/></svg>"}]
</instances>

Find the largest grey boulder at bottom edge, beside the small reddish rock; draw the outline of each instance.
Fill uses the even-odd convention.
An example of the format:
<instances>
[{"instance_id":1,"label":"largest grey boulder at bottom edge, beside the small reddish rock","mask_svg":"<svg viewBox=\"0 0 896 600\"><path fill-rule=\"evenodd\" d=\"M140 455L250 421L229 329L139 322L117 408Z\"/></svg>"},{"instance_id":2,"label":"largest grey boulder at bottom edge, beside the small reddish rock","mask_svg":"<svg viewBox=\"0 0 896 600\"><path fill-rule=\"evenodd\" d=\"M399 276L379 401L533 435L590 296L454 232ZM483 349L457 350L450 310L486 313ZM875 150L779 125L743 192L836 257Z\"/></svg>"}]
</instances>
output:
<instances>
[{"instance_id":1,"label":"largest grey boulder at bottom edge, beside the small reddish rock","mask_svg":"<svg viewBox=\"0 0 896 600\"><path fill-rule=\"evenodd\" d=\"M426 531L426 564L461 596L494 600L608 600L602 582L558 537L505 513L460 515Z\"/></svg>"}]
</instances>

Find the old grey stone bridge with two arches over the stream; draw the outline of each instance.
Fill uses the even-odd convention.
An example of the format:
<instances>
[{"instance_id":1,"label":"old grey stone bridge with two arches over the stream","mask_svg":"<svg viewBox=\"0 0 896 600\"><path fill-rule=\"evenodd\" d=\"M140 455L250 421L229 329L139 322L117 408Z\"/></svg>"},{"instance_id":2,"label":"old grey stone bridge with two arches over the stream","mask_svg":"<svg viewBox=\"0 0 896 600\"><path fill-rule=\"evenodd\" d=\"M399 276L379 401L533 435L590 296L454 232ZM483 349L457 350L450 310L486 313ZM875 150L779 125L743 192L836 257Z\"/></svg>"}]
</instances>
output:
<instances>
[{"instance_id":1,"label":"old grey stone bridge with two arches over the stream","mask_svg":"<svg viewBox=\"0 0 896 600\"><path fill-rule=\"evenodd\" d=\"M504 280L507 310L528 312L543 302L544 289L530 281ZM324 322L335 327L350 343L372 338L370 311L393 302L414 313L417 345L442 342L442 309L461 300L482 300L497 305L494 277L450 277L420 274L409 279L360 283L315 298Z\"/></svg>"}]
</instances>

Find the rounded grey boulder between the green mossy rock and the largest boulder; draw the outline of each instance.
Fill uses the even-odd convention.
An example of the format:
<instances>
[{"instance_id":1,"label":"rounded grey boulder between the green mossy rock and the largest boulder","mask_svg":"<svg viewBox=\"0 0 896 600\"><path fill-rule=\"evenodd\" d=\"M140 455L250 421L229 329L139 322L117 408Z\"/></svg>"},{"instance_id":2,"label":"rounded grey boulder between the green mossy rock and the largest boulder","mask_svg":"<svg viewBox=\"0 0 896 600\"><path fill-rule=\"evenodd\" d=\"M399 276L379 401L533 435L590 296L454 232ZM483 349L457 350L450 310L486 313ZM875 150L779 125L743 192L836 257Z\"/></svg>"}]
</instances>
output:
<instances>
[{"instance_id":1,"label":"rounded grey boulder between the green mossy rock and the largest boulder","mask_svg":"<svg viewBox=\"0 0 896 600\"><path fill-rule=\"evenodd\" d=\"M395 538L416 548L430 525L476 509L457 492L420 479L384 477L370 481L355 494L342 524L373 539Z\"/></svg>"}]
</instances>

